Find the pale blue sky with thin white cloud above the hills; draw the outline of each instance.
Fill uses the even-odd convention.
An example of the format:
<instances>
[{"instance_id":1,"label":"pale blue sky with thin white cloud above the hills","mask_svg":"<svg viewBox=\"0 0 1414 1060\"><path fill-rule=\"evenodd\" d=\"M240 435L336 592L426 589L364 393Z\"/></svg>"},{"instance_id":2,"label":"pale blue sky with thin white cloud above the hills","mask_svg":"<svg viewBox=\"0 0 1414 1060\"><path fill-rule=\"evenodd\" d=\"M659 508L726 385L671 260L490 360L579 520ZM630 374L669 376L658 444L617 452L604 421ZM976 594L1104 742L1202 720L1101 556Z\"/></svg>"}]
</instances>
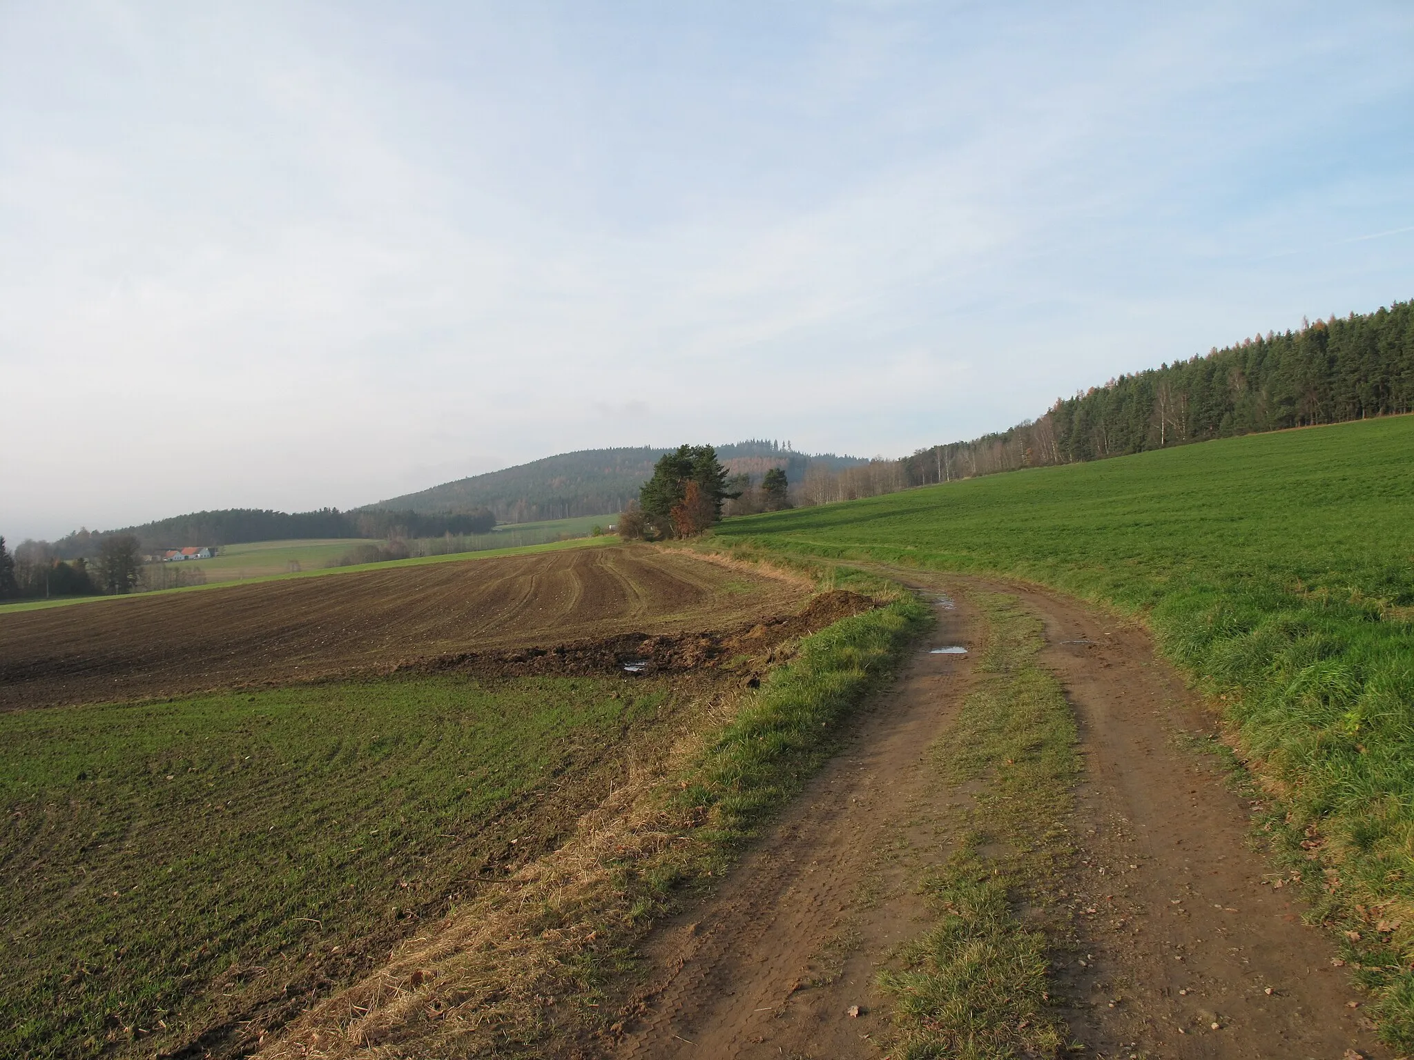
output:
<instances>
[{"instance_id":1,"label":"pale blue sky with thin white cloud above the hills","mask_svg":"<svg viewBox=\"0 0 1414 1060\"><path fill-rule=\"evenodd\" d=\"M0 534L898 457L1407 301L1411 55L1407 0L0 0Z\"/></svg>"}]
</instances>

